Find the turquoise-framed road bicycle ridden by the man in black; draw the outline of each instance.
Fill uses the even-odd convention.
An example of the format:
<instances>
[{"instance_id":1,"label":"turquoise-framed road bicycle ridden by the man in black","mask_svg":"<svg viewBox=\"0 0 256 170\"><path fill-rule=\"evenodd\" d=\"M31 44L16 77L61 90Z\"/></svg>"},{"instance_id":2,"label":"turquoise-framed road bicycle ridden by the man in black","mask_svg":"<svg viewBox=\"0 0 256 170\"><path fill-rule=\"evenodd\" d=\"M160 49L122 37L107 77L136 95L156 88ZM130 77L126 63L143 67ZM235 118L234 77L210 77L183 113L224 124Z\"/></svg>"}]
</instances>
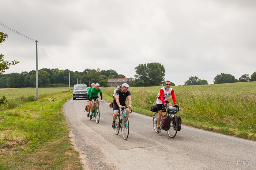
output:
<instances>
[{"instance_id":1,"label":"turquoise-framed road bicycle ridden by the man in black","mask_svg":"<svg viewBox=\"0 0 256 170\"><path fill-rule=\"evenodd\" d=\"M129 135L129 120L126 116L125 108L128 108L128 106L127 105L124 106L124 110L122 110L121 108L118 109L118 116L116 117L116 122L115 122L116 128L114 129L116 135L118 135L119 130L121 128L124 140L126 140ZM131 112L132 112L132 108L130 113ZM122 118L120 118L120 113L122 115Z\"/></svg>"}]
</instances>

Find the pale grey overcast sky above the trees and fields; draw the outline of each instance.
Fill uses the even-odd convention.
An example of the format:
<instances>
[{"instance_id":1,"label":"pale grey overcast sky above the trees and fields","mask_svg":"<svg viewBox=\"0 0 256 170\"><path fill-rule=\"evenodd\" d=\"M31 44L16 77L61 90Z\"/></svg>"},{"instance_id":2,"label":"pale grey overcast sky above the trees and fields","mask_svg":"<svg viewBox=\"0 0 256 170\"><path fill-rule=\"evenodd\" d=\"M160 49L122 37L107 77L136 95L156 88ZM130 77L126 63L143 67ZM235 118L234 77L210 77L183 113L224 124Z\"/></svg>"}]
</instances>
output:
<instances>
[{"instance_id":1,"label":"pale grey overcast sky above the trees and fields","mask_svg":"<svg viewBox=\"0 0 256 170\"><path fill-rule=\"evenodd\" d=\"M222 72L256 71L255 0L0 0L0 22L38 40L38 69L109 70L134 78L159 62L165 79L212 84ZM36 70L35 42L0 25L6 73ZM55 65L56 64L56 65Z\"/></svg>"}]
</instances>

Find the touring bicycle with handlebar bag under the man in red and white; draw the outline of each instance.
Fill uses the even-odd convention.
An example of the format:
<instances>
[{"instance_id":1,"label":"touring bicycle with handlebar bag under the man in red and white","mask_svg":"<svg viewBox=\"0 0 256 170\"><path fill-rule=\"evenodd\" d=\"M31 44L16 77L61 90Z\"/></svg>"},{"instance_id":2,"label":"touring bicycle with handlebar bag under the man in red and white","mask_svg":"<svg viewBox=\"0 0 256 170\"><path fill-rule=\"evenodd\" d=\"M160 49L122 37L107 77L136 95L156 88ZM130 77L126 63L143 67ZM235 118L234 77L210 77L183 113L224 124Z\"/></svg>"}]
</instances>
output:
<instances>
[{"instance_id":1,"label":"touring bicycle with handlebar bag under the man in red and white","mask_svg":"<svg viewBox=\"0 0 256 170\"><path fill-rule=\"evenodd\" d=\"M179 107L174 107L174 106L168 106L166 109L163 110L163 112L166 112L166 110L167 110L167 115L169 115L170 118L171 118L170 129L167 130L167 134L169 135L170 138L174 138L177 134L176 113L180 110L180 108ZM158 112L155 112L155 114L153 116L153 119L151 121L151 123L153 124L155 133L159 133L157 131L157 117L158 117ZM161 130L161 126L162 126L162 117L161 117L161 122L159 124L160 130Z\"/></svg>"}]
</instances>

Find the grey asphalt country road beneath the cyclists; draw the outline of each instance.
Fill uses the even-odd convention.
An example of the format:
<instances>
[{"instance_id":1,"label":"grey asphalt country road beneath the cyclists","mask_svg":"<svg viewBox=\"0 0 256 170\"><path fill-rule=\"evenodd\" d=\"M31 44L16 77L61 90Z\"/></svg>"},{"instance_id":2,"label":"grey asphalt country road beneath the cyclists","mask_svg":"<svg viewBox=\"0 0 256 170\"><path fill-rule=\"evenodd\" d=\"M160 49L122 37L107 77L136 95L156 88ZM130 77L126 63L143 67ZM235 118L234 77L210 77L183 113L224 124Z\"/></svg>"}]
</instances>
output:
<instances>
[{"instance_id":1,"label":"grey asphalt country road beneath the cyclists","mask_svg":"<svg viewBox=\"0 0 256 170\"><path fill-rule=\"evenodd\" d=\"M113 108L103 103L99 124L84 108L87 100L68 100L64 114L84 169L256 169L256 142L182 125L176 137L155 133L152 117L131 113L129 137L112 129Z\"/></svg>"}]
</instances>

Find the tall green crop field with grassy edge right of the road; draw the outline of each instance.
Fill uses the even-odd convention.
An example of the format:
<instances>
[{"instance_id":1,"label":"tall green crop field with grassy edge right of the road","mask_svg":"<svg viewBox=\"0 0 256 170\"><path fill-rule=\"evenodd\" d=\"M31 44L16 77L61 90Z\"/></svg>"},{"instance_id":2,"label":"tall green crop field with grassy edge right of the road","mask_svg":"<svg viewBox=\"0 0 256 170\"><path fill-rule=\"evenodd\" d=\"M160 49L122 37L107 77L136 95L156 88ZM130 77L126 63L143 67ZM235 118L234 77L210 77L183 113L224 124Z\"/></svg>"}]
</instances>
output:
<instances>
[{"instance_id":1,"label":"tall green crop field with grassy edge right of the road","mask_svg":"<svg viewBox=\"0 0 256 170\"><path fill-rule=\"evenodd\" d=\"M152 116L161 87L130 87L132 107ZM256 82L173 86L182 124L241 138L256 139ZM112 100L114 88L102 88ZM169 99L172 102L172 99Z\"/></svg>"}]
</instances>

